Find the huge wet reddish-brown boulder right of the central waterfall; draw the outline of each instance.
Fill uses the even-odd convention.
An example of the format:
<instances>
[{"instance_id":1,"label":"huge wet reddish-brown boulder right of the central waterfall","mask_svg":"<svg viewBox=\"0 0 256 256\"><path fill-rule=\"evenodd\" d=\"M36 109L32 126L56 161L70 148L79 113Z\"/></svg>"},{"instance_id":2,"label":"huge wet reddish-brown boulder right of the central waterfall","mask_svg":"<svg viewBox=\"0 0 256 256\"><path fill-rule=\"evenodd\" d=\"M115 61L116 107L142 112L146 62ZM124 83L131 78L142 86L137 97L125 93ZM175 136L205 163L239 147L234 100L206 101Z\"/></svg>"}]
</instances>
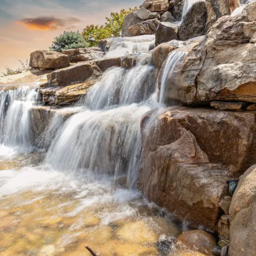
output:
<instances>
[{"instance_id":1,"label":"huge wet reddish-brown boulder right of the central waterfall","mask_svg":"<svg viewBox=\"0 0 256 256\"><path fill-rule=\"evenodd\" d=\"M255 112L172 107L144 115L138 188L193 228L217 230L226 180L256 163Z\"/></svg>"}]
</instances>

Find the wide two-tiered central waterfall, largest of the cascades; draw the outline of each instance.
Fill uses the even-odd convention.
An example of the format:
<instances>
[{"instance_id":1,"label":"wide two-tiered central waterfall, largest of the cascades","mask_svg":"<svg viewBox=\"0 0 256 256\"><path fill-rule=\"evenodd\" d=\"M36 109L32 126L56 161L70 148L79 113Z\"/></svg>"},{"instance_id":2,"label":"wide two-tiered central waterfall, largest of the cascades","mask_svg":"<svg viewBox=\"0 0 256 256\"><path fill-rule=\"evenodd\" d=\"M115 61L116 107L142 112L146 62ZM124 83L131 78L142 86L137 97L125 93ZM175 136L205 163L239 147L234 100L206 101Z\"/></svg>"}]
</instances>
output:
<instances>
[{"instance_id":1,"label":"wide two-tiered central waterfall, largest of the cascades","mask_svg":"<svg viewBox=\"0 0 256 256\"><path fill-rule=\"evenodd\" d=\"M146 61L147 62L147 61ZM141 164L140 121L155 91L154 67L141 57L132 69L110 68L79 101L85 110L57 133L45 162L55 170L93 171L134 187Z\"/></svg>"}]
</instances>

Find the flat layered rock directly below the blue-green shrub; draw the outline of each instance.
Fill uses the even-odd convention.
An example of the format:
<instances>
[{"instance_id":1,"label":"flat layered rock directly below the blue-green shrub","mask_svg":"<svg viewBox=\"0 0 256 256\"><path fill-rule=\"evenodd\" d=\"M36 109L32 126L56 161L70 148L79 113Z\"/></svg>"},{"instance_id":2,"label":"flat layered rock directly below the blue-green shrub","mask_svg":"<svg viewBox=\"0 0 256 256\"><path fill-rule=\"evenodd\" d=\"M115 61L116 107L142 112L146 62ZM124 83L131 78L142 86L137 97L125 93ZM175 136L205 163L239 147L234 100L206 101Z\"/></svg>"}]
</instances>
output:
<instances>
[{"instance_id":1,"label":"flat layered rock directly below the blue-green shrub","mask_svg":"<svg viewBox=\"0 0 256 256\"><path fill-rule=\"evenodd\" d=\"M105 54L98 47L68 49L62 53L68 55L69 61L71 62L101 59Z\"/></svg>"}]
</instances>

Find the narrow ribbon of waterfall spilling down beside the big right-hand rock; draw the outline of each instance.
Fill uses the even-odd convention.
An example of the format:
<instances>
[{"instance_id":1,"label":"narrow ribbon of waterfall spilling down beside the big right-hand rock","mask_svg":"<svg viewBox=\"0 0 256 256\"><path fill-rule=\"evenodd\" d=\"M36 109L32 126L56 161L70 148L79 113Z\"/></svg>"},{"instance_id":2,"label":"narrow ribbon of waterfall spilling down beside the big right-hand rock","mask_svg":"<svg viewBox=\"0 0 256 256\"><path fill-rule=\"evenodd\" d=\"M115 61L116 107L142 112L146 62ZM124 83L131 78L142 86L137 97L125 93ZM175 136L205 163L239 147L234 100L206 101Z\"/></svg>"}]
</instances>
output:
<instances>
[{"instance_id":1,"label":"narrow ribbon of waterfall spilling down beside the big right-hand rock","mask_svg":"<svg viewBox=\"0 0 256 256\"><path fill-rule=\"evenodd\" d=\"M160 87L160 106L164 106L166 103L169 93L173 88L178 88L179 83L182 81L182 76L180 74L180 66L187 52L172 51L167 57L166 64L163 69L161 87Z\"/></svg>"}]
</instances>

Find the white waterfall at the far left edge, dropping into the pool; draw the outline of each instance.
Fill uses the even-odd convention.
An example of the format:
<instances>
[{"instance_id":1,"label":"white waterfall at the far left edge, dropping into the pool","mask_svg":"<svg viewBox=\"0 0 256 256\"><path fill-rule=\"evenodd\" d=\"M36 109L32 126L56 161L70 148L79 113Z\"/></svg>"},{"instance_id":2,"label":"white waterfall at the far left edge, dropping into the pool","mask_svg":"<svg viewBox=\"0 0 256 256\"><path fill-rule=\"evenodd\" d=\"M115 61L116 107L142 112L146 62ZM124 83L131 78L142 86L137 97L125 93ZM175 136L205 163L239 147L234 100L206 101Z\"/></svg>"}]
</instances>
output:
<instances>
[{"instance_id":1,"label":"white waterfall at the far left edge, dropping into the pool","mask_svg":"<svg viewBox=\"0 0 256 256\"><path fill-rule=\"evenodd\" d=\"M31 151L29 110L37 92L29 86L0 91L0 142L16 150Z\"/></svg>"}]
</instances>

